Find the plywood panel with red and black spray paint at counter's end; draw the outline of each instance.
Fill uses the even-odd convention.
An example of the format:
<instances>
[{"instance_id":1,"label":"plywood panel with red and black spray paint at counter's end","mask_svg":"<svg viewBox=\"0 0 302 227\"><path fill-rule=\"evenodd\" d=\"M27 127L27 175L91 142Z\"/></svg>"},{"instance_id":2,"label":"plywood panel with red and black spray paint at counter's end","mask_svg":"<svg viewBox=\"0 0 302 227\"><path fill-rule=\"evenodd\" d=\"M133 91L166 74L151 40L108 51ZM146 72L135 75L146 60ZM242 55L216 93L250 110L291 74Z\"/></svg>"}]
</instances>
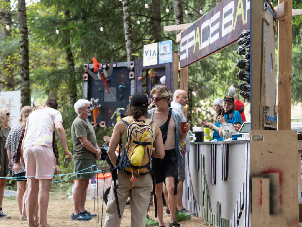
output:
<instances>
[{"instance_id":1,"label":"plywood panel with red and black spray paint at counter's end","mask_svg":"<svg viewBox=\"0 0 302 227\"><path fill-rule=\"evenodd\" d=\"M297 134L295 131L252 130L250 177L251 226L296 226L298 216Z\"/></svg>"}]
</instances>

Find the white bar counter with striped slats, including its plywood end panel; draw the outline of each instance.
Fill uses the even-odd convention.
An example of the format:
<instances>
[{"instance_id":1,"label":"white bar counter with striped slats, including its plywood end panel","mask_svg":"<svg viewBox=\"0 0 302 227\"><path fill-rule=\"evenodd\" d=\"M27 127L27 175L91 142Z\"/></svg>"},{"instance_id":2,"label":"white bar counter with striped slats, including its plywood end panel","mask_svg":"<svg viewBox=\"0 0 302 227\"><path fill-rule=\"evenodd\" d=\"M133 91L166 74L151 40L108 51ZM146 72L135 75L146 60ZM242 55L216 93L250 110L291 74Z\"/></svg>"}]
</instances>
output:
<instances>
[{"instance_id":1,"label":"white bar counter with striped slats, including its plywood end panel","mask_svg":"<svg viewBox=\"0 0 302 227\"><path fill-rule=\"evenodd\" d=\"M295 133L251 131L251 141L190 143L184 207L214 226L296 226Z\"/></svg>"}]
</instances>

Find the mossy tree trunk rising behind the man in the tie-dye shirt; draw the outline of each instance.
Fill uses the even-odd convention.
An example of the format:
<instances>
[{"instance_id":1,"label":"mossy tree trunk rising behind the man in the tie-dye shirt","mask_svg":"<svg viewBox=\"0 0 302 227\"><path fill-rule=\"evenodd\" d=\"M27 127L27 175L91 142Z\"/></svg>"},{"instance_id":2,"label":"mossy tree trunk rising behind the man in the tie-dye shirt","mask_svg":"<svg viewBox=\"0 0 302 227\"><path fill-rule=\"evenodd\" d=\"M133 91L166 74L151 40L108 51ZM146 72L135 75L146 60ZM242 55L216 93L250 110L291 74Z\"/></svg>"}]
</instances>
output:
<instances>
[{"instance_id":1,"label":"mossy tree trunk rising behind the man in the tie-dye shirt","mask_svg":"<svg viewBox=\"0 0 302 227\"><path fill-rule=\"evenodd\" d=\"M20 75L22 107L31 105L31 85L29 81L28 30L25 0L18 1L18 18L20 29Z\"/></svg>"}]
</instances>

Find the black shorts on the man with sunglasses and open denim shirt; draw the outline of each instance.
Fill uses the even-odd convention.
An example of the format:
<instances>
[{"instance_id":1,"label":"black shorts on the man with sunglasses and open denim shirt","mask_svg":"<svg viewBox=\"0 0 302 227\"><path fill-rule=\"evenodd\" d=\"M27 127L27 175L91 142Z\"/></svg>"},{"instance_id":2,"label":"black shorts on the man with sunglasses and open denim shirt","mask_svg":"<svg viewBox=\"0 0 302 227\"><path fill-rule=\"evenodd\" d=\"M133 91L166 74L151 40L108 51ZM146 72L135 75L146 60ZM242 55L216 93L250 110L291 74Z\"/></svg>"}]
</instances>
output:
<instances>
[{"instance_id":1,"label":"black shorts on the man with sunglasses and open denim shirt","mask_svg":"<svg viewBox=\"0 0 302 227\"><path fill-rule=\"evenodd\" d=\"M156 183L165 183L165 178L168 176L178 176L177 156L175 149L165 150L163 159L154 159L154 175ZM175 175L176 174L176 175ZM178 180L177 180L178 181Z\"/></svg>"}]
</instances>

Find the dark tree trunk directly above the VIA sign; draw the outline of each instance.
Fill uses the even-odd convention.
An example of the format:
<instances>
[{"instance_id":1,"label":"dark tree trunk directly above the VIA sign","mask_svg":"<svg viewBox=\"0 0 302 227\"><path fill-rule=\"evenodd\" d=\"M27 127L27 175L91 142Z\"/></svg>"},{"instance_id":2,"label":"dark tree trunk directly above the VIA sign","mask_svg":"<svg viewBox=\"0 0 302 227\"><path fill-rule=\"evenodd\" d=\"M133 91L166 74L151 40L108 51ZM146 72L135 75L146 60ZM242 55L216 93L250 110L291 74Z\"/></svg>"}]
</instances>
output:
<instances>
[{"instance_id":1,"label":"dark tree trunk directly above the VIA sign","mask_svg":"<svg viewBox=\"0 0 302 227\"><path fill-rule=\"evenodd\" d=\"M162 41L161 33L161 17L160 17L160 0L152 0L152 41L155 39L155 42Z\"/></svg>"}]
</instances>

